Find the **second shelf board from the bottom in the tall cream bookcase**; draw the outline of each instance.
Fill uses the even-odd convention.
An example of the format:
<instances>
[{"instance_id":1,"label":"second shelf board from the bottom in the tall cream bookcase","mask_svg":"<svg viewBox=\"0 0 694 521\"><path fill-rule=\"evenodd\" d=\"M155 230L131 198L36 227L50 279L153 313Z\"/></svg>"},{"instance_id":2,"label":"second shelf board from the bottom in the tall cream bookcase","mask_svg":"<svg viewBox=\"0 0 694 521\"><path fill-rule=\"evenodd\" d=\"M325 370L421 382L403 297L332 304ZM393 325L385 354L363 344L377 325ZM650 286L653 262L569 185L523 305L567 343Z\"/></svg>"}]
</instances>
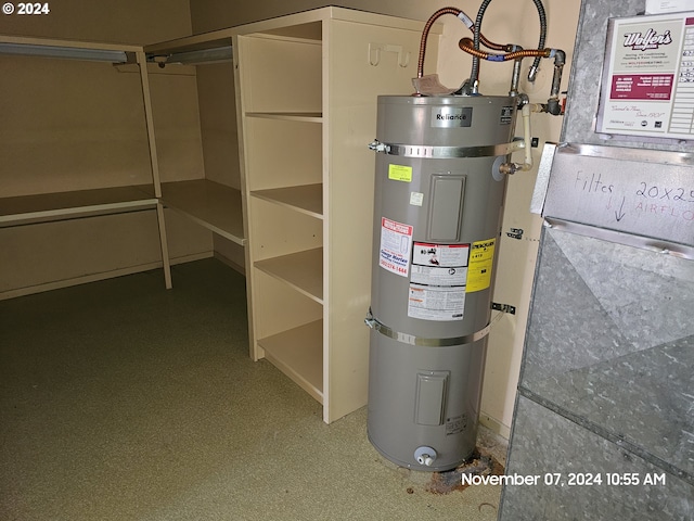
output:
<instances>
[{"instance_id":1,"label":"second shelf board from the bottom in the tall cream bookcase","mask_svg":"<svg viewBox=\"0 0 694 521\"><path fill-rule=\"evenodd\" d=\"M323 304L323 249L257 260L254 266Z\"/></svg>"}]
</instances>

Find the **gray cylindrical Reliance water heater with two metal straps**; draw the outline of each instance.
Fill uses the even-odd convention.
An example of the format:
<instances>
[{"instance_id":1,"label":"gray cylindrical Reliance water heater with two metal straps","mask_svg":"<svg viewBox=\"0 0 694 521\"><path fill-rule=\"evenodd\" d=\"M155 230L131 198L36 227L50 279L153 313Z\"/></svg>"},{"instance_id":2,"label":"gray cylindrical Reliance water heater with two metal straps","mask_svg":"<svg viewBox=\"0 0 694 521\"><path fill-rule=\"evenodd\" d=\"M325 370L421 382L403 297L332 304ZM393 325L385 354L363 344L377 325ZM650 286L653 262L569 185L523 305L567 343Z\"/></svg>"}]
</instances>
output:
<instances>
[{"instance_id":1,"label":"gray cylindrical Reliance water heater with two metal straps","mask_svg":"<svg viewBox=\"0 0 694 521\"><path fill-rule=\"evenodd\" d=\"M475 448L517 99L378 98L369 439L449 470Z\"/></svg>"}]
</instances>

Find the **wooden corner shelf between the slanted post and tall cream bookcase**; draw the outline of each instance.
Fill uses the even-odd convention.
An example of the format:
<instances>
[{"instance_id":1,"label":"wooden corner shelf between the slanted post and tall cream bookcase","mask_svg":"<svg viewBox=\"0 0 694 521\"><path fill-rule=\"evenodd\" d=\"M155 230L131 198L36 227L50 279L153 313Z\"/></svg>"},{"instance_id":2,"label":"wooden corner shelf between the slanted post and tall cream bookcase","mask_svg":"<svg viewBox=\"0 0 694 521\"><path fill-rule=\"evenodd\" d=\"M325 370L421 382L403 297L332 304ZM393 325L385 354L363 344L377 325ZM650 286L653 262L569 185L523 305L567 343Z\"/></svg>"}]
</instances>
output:
<instances>
[{"instance_id":1,"label":"wooden corner shelf between the slanted post and tall cream bookcase","mask_svg":"<svg viewBox=\"0 0 694 521\"><path fill-rule=\"evenodd\" d=\"M165 206L244 246L241 192L206 179L162 183Z\"/></svg>"}]
</instances>

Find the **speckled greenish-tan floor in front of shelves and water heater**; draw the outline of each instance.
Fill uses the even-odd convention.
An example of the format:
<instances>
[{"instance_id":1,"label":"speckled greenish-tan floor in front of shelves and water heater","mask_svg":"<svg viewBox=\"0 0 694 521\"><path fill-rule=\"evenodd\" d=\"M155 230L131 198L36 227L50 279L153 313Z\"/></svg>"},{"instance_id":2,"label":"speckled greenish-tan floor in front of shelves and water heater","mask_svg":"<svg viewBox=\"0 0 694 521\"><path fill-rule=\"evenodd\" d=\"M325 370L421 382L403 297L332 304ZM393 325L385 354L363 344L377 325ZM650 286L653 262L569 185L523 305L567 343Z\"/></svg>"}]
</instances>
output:
<instances>
[{"instance_id":1,"label":"speckled greenish-tan floor in front of shelves and water heater","mask_svg":"<svg viewBox=\"0 0 694 521\"><path fill-rule=\"evenodd\" d=\"M215 259L0 302L0 519L496 520L248 358L244 279ZM503 462L505 444L481 431Z\"/></svg>"}]
</instances>

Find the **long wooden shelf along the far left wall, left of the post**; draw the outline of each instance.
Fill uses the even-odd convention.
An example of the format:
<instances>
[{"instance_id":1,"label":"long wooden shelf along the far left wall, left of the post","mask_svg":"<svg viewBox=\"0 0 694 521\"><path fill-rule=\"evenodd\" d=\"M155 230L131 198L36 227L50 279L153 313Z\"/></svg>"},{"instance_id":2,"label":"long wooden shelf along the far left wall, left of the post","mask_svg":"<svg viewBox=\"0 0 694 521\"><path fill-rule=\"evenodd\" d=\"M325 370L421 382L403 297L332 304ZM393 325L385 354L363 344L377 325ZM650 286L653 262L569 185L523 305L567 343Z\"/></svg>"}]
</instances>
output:
<instances>
[{"instance_id":1,"label":"long wooden shelf along the far left wall, left of the post","mask_svg":"<svg viewBox=\"0 0 694 521\"><path fill-rule=\"evenodd\" d=\"M156 207L147 186L113 187L0 199L0 227Z\"/></svg>"}]
</instances>

